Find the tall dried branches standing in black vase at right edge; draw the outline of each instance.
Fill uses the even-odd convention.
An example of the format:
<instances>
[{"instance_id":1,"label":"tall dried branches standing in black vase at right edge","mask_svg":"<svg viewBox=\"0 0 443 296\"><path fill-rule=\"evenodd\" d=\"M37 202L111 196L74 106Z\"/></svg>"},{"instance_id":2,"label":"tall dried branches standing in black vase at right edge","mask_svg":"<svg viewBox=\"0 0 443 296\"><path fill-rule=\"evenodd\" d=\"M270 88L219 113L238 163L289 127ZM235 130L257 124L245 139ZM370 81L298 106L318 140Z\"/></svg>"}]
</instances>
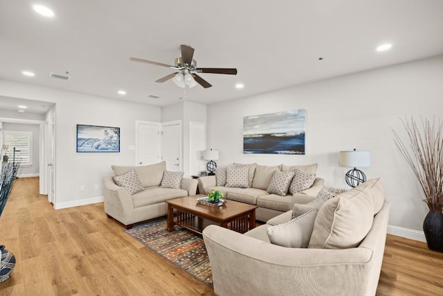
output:
<instances>
[{"instance_id":1,"label":"tall dried branches standing in black vase at right edge","mask_svg":"<svg viewBox=\"0 0 443 296\"><path fill-rule=\"evenodd\" d=\"M422 119L417 125L413 118L401 122L409 148L394 131L395 143L417 177L429 209L423 222L426 242L430 250L443 252L443 122Z\"/></svg>"}]
</instances>

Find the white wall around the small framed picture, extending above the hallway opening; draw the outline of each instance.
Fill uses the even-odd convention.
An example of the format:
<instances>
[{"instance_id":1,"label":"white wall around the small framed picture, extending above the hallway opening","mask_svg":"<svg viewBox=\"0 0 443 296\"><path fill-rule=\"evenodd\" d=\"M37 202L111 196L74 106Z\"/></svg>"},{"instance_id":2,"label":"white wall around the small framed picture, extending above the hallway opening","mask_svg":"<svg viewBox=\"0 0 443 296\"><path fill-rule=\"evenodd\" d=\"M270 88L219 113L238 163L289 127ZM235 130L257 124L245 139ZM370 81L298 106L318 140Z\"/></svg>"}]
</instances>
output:
<instances>
[{"instance_id":1,"label":"white wall around the small framed picture, extending above the hallway opening","mask_svg":"<svg viewBox=\"0 0 443 296\"><path fill-rule=\"evenodd\" d=\"M111 165L132 165L136 161L135 150L129 150L135 145L135 121L161 121L160 107L6 80L0 80L0 95L56 103L55 208L102 200L102 178L112 174ZM77 124L120 128L120 153L76 153ZM81 185L84 191L80 191Z\"/></svg>"}]
</instances>

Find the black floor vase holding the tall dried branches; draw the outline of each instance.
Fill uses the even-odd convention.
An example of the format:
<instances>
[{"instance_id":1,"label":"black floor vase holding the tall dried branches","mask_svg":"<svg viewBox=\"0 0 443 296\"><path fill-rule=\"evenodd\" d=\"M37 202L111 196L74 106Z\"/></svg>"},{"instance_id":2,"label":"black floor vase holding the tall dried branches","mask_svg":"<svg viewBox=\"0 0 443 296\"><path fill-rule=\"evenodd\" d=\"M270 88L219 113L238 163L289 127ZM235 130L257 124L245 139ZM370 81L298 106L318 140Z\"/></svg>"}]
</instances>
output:
<instances>
[{"instance_id":1,"label":"black floor vase holding the tall dried branches","mask_svg":"<svg viewBox=\"0 0 443 296\"><path fill-rule=\"evenodd\" d=\"M442 211L430 211L423 222L429 250L443 252L443 214Z\"/></svg>"}]
</instances>

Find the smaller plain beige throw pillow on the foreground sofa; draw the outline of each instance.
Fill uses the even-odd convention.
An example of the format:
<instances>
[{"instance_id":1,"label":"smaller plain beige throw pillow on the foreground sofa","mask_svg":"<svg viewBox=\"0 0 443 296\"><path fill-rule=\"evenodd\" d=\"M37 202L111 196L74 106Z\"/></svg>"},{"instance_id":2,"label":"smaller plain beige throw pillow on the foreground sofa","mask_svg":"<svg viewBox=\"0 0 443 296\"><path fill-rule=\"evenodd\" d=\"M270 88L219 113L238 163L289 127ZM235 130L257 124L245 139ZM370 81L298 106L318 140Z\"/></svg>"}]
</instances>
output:
<instances>
[{"instance_id":1,"label":"smaller plain beige throw pillow on the foreground sofa","mask_svg":"<svg viewBox=\"0 0 443 296\"><path fill-rule=\"evenodd\" d=\"M268 227L269 241L282 247L307 247L318 209L311 209L287 223Z\"/></svg>"}]
</instances>

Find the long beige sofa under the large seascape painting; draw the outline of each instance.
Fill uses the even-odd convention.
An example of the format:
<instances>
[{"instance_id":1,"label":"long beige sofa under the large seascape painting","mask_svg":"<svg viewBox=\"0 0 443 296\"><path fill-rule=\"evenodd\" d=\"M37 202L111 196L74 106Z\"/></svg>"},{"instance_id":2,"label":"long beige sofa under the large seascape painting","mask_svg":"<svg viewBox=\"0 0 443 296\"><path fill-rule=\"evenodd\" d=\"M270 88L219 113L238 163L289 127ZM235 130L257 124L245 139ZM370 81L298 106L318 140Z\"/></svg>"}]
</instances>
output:
<instances>
[{"instance_id":1,"label":"long beige sofa under the large seascape painting","mask_svg":"<svg viewBox=\"0 0 443 296\"><path fill-rule=\"evenodd\" d=\"M314 183L309 189L300 191L299 193L287 193L284 196L268 193L268 189L273 174L276 171L301 171L315 174L318 164L310 164L307 166L261 166L257 164L233 164L233 166L248 166L248 188L232 188L226 186L217 186L218 170L216 175L199 177L199 193L208 194L213 189L217 189L224 194L228 200L236 200L237 202L245 202L257 205L255 218L260 221L267 221L278 216L285 211L289 211L295 203L307 203L316 198L316 195L323 188L324 180L315 178Z\"/></svg>"}]
</instances>

